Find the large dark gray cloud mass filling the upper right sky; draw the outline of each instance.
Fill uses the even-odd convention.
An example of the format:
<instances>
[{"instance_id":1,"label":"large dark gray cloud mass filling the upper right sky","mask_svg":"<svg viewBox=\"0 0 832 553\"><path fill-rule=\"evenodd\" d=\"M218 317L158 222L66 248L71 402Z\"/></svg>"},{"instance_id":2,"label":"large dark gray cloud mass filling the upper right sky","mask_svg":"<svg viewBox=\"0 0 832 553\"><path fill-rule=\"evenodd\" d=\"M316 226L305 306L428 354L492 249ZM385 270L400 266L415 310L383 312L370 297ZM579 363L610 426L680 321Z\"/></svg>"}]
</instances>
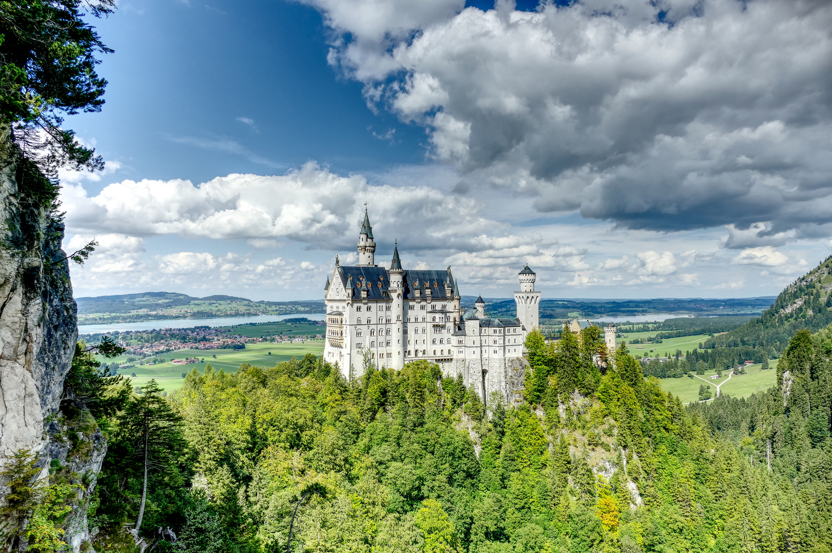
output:
<instances>
[{"instance_id":1,"label":"large dark gray cloud mass filling the upper right sky","mask_svg":"<svg viewBox=\"0 0 832 553\"><path fill-rule=\"evenodd\" d=\"M359 15L377 2L352 0L349 17L310 3L351 37L330 61L369 101L426 126L438 159L536 195L536 210L648 230L765 223L740 240L755 246L832 222L830 2L432 4L404 14L410 33L396 2L371 32Z\"/></svg>"}]
</instances>

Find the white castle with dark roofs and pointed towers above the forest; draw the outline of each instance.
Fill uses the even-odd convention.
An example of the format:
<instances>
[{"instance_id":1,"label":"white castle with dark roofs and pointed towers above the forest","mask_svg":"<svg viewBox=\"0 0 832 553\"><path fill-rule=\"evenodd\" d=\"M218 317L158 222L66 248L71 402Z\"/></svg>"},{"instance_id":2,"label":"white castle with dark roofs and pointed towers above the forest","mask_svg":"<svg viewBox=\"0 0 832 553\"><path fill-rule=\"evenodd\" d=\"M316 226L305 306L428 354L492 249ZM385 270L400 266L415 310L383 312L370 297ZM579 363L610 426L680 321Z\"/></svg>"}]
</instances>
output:
<instances>
[{"instance_id":1,"label":"white castle with dark roofs and pointed towers above the forest","mask_svg":"<svg viewBox=\"0 0 832 553\"><path fill-rule=\"evenodd\" d=\"M364 371L364 353L378 367L403 368L426 359L446 376L463 375L483 402L488 394L504 398L509 383L524 373L523 343L537 328L540 292L528 265L519 273L520 291L514 293L517 318L485 314L480 296L475 309L463 309L451 268L403 269L398 243L390 269L375 264L375 242L369 215L359 231L359 263L335 268L324 288L326 345L324 360L337 363L345 377ZM522 377L520 383L522 386Z\"/></svg>"}]
</instances>

